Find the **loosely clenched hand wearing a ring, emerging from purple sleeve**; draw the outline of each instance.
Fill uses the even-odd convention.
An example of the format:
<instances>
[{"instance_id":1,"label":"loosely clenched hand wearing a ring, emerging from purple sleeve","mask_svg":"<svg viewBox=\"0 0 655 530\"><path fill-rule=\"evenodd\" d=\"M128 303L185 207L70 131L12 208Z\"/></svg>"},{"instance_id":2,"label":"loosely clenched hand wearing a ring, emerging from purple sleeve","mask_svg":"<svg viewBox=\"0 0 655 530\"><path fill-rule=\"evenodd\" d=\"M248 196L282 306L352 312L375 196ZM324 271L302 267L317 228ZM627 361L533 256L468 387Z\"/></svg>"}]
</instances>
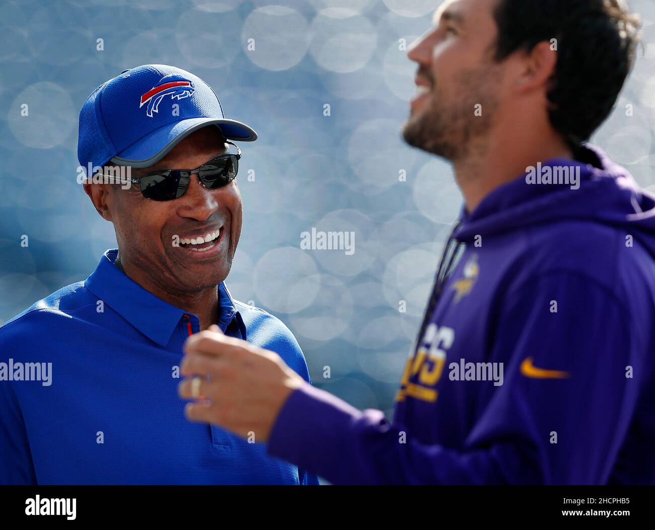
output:
<instances>
[{"instance_id":1,"label":"loosely clenched hand wearing a ring, emerging from purple sleeve","mask_svg":"<svg viewBox=\"0 0 655 530\"><path fill-rule=\"evenodd\" d=\"M266 442L282 405L305 381L278 354L226 337L218 326L191 335L184 345L178 387L191 421L213 423L255 442Z\"/></svg>"}]
</instances>

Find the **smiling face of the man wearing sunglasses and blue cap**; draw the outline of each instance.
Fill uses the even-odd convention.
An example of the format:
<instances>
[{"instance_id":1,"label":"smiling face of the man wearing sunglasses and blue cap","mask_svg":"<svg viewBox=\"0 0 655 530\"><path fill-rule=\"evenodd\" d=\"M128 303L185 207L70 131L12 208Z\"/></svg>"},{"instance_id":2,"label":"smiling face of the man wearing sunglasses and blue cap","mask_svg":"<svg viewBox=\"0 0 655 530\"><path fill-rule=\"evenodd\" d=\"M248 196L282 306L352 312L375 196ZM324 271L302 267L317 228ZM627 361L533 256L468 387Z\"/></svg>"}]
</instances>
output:
<instances>
[{"instance_id":1,"label":"smiling face of the man wearing sunglasses and blue cap","mask_svg":"<svg viewBox=\"0 0 655 530\"><path fill-rule=\"evenodd\" d=\"M156 170L198 168L228 152L222 140L214 126L197 130L153 166L133 169L132 178ZM107 191L106 203L125 269L178 295L215 287L229 274L242 224L236 180L211 190L195 173L182 197L162 202L145 199L136 184L130 189L115 185ZM198 240L207 235L217 237Z\"/></svg>"}]
</instances>

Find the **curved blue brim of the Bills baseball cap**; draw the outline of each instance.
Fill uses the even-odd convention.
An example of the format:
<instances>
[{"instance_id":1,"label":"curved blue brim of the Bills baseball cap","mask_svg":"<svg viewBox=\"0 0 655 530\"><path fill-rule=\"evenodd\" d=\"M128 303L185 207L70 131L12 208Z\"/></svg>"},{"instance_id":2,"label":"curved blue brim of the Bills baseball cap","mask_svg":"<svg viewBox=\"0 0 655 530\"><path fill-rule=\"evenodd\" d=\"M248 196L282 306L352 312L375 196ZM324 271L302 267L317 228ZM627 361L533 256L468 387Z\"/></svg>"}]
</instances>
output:
<instances>
[{"instance_id":1,"label":"curved blue brim of the Bills baseball cap","mask_svg":"<svg viewBox=\"0 0 655 530\"><path fill-rule=\"evenodd\" d=\"M254 142L257 133L245 123L229 119L189 118L163 126L141 138L111 159L111 162L133 168L147 168L159 162L166 153L192 132L208 125L217 126L228 140Z\"/></svg>"}]
</instances>

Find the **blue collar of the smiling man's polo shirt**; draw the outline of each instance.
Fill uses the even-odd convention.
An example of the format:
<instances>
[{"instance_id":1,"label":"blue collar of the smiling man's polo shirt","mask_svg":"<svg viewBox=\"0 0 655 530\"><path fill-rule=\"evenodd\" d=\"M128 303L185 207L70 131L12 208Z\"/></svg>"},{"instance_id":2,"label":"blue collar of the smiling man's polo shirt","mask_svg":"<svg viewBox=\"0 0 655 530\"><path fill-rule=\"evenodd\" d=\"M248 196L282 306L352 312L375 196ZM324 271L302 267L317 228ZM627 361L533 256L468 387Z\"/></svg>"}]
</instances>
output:
<instances>
[{"instance_id":1,"label":"blue collar of the smiling man's polo shirt","mask_svg":"<svg viewBox=\"0 0 655 530\"><path fill-rule=\"evenodd\" d=\"M134 282L114 265L117 256L117 248L107 250L84 285L143 335L166 347L182 316L191 313L163 301ZM236 320L242 338L245 339L246 326L234 307L225 282L218 285L218 304L219 327L225 331L227 326Z\"/></svg>"}]
</instances>

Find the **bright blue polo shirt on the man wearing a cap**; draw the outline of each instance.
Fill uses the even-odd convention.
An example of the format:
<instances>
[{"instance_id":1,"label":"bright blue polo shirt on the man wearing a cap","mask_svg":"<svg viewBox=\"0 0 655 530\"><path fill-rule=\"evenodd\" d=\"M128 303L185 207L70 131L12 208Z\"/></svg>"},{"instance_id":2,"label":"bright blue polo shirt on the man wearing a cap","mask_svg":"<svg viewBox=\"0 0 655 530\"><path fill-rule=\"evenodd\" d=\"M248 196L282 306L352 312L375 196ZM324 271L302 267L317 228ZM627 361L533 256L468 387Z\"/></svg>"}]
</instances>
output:
<instances>
[{"instance_id":1,"label":"bright blue polo shirt on the man wearing a cap","mask_svg":"<svg viewBox=\"0 0 655 530\"><path fill-rule=\"evenodd\" d=\"M264 444L187 421L178 367L198 317L130 280L117 252L0 328L0 483L318 483ZM218 293L226 335L277 352L309 381L280 320L223 283Z\"/></svg>"}]
</instances>

